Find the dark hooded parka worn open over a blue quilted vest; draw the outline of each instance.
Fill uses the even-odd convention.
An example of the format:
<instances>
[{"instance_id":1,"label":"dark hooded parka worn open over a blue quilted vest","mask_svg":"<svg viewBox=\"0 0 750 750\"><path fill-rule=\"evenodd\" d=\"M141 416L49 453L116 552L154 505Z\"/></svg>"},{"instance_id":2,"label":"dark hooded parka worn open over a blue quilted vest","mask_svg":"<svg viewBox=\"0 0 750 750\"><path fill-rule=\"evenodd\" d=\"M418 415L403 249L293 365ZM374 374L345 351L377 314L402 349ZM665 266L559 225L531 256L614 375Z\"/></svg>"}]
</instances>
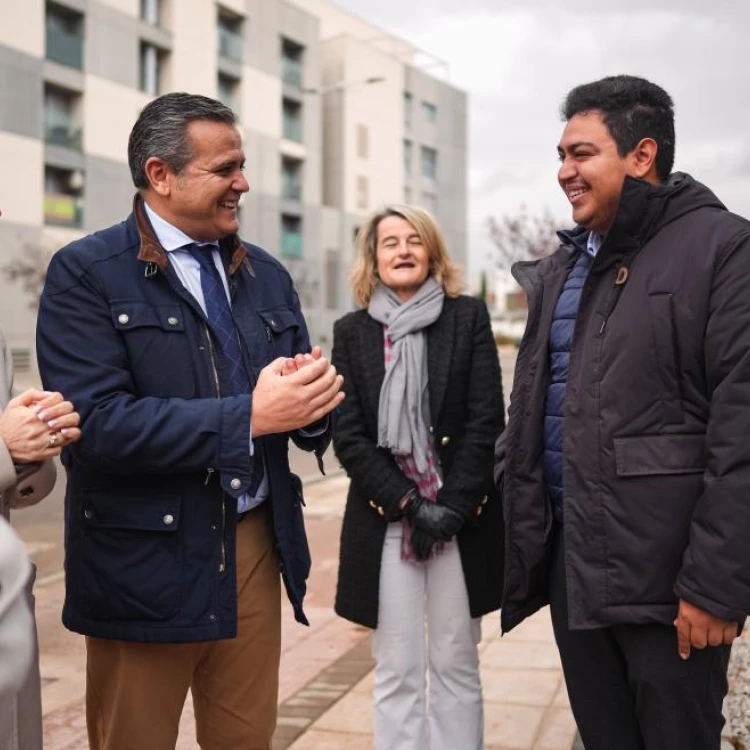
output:
<instances>
[{"instance_id":1,"label":"dark hooded parka worn open over a blue quilted vest","mask_svg":"<svg viewBox=\"0 0 750 750\"><path fill-rule=\"evenodd\" d=\"M529 319L505 434L503 629L548 601L552 312L579 252L519 263ZM684 174L627 178L583 289L565 403L569 624L750 610L750 223Z\"/></svg>"}]
</instances>

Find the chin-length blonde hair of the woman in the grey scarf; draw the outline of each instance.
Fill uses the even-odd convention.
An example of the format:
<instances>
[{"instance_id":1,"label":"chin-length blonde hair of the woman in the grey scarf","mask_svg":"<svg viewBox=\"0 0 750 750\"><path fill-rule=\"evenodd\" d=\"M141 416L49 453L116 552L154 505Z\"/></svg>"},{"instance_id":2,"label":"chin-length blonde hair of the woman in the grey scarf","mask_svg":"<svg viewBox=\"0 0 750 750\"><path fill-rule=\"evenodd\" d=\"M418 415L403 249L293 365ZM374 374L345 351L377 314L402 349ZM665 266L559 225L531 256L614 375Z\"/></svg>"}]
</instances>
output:
<instances>
[{"instance_id":1,"label":"chin-length blonde hair of the woman in the grey scarf","mask_svg":"<svg viewBox=\"0 0 750 750\"><path fill-rule=\"evenodd\" d=\"M372 214L357 232L357 258L350 275L354 301L360 307L370 304L378 283L378 227L389 216L400 216L414 227L430 259L430 276L443 287L448 297L458 297L464 290L461 268L448 255L445 238L435 218L418 206L394 203Z\"/></svg>"}]
</instances>

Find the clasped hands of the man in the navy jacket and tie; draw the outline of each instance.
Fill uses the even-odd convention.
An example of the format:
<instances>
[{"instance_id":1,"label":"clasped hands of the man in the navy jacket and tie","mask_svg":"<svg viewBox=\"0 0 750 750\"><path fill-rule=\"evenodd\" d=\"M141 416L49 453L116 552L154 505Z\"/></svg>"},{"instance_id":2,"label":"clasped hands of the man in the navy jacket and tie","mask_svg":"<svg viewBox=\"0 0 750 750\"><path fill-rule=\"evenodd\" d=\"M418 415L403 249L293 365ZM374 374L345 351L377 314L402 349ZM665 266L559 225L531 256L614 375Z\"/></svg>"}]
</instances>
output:
<instances>
[{"instance_id":1,"label":"clasped hands of the man in the navy jacket and tie","mask_svg":"<svg viewBox=\"0 0 750 750\"><path fill-rule=\"evenodd\" d=\"M343 383L319 346L275 359L260 371L253 390L253 437L318 422L344 400Z\"/></svg>"}]
</instances>

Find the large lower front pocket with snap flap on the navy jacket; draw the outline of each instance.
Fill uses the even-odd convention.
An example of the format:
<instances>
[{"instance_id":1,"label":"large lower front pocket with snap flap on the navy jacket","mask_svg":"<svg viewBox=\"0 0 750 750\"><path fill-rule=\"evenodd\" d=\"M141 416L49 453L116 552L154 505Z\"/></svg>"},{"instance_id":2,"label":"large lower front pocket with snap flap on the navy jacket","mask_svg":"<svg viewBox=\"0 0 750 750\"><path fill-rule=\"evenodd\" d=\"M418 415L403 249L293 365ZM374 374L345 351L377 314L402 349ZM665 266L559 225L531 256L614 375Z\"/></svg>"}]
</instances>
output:
<instances>
[{"instance_id":1,"label":"large lower front pocket with snap flap on the navy jacket","mask_svg":"<svg viewBox=\"0 0 750 750\"><path fill-rule=\"evenodd\" d=\"M80 548L75 580L82 611L92 620L159 621L182 601L179 495L86 495L79 506Z\"/></svg>"}]
</instances>

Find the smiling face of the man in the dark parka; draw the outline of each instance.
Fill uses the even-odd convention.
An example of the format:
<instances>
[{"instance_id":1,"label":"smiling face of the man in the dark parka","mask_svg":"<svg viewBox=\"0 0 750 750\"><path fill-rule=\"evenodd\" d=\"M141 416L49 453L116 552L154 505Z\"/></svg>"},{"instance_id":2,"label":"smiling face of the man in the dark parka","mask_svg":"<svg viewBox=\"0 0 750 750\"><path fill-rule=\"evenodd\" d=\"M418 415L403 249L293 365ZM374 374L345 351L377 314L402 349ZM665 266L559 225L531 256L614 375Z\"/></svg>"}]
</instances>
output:
<instances>
[{"instance_id":1,"label":"smiling face of the man in the dark parka","mask_svg":"<svg viewBox=\"0 0 750 750\"><path fill-rule=\"evenodd\" d=\"M570 118L557 151L557 179L573 208L573 221L606 234L617 214L625 177L633 173L631 155L620 156L596 110Z\"/></svg>"}]
</instances>

